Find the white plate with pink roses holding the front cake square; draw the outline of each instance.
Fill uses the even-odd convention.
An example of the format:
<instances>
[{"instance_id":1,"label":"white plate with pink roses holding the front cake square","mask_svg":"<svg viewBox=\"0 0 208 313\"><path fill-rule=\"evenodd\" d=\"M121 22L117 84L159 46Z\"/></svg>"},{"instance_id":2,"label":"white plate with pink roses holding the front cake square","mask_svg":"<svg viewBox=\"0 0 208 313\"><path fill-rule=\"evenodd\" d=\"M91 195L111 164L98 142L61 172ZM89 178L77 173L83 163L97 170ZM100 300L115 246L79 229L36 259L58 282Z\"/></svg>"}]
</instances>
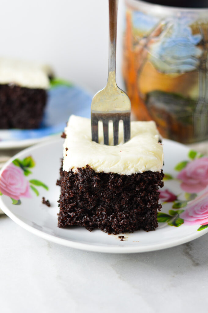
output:
<instances>
[{"instance_id":1,"label":"white plate with pink roses holding the front cake square","mask_svg":"<svg viewBox=\"0 0 208 313\"><path fill-rule=\"evenodd\" d=\"M63 141L18 153L0 172L0 208L28 231L58 244L89 251L135 253L183 244L208 232L208 158L164 140L165 185L155 231L108 235L100 230L57 227ZM42 203L42 197L51 206ZM122 239L122 240L121 240Z\"/></svg>"}]
</instances>

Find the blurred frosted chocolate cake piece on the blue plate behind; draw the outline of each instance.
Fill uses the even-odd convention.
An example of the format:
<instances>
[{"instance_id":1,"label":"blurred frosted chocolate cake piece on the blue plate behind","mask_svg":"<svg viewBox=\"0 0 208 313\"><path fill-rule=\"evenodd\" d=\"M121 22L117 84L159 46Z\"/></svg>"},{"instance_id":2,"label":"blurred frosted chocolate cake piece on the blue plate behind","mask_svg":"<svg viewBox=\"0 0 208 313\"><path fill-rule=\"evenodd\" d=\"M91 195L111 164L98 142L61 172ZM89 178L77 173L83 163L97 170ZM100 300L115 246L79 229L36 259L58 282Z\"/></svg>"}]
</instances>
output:
<instances>
[{"instance_id":1,"label":"blurred frosted chocolate cake piece on the blue plate behind","mask_svg":"<svg viewBox=\"0 0 208 313\"><path fill-rule=\"evenodd\" d=\"M0 129L38 128L47 101L48 67L0 58Z\"/></svg>"}]
</instances>

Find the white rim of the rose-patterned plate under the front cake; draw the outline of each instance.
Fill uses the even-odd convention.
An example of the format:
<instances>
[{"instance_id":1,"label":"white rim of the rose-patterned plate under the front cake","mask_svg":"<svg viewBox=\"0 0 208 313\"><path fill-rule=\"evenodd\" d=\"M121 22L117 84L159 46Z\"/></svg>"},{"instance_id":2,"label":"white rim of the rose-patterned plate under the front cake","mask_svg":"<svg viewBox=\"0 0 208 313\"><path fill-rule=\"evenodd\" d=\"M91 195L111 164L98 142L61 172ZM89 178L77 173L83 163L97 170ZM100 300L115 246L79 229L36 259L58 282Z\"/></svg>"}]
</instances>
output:
<instances>
[{"instance_id":1,"label":"white rim of the rose-patterned plate under the front cake","mask_svg":"<svg viewBox=\"0 0 208 313\"><path fill-rule=\"evenodd\" d=\"M177 144L177 145L183 146L183 147L189 149L187 146L185 146L185 145L183 145L177 141L173 141L170 139L163 139L163 140L170 142L172 144ZM63 142L63 139L58 138L58 139L50 140L48 142L38 143L36 145L30 146L30 147L18 152L17 154L15 154L13 157L11 157L4 164L4 166L0 170L0 177L3 173L3 171L5 170L5 168L15 158L18 158L19 156L24 155L25 153L28 153L29 151L31 152L33 150L39 149L42 146L45 147L46 145L54 145L56 143L60 143L61 141ZM91 251L91 252L103 252L103 253L114 253L114 254L151 252L151 251L157 251L157 250L172 248L172 247L178 246L180 244L185 244L191 240L194 240L194 239L197 239L197 238L203 236L205 233L208 233L208 228L205 228L205 229L201 230L200 232L192 233L188 236L182 237L181 239L174 239L172 241L169 241L168 243L152 244L152 245L148 245L146 247L145 246L134 246L134 247L125 247L125 246L119 247L119 246L117 246L116 247L116 246L102 246L102 245L97 245L97 244L92 245L92 244L88 244L88 243L80 243L80 242L76 242L76 241L73 241L70 239L63 239L63 238L60 238L58 236L50 235L48 233L45 233L42 230L39 230L37 228L34 228L33 226L28 225L27 223L23 222L20 218L18 218L14 213L12 213L10 211L10 209L4 204L1 197L0 197L0 208L15 223L17 223L19 226L26 229L30 233L37 235L38 237L41 237L43 239L54 242L56 244L61 244L63 246L67 246L70 248L80 249L80 250L85 250L85 251Z\"/></svg>"}]
</instances>

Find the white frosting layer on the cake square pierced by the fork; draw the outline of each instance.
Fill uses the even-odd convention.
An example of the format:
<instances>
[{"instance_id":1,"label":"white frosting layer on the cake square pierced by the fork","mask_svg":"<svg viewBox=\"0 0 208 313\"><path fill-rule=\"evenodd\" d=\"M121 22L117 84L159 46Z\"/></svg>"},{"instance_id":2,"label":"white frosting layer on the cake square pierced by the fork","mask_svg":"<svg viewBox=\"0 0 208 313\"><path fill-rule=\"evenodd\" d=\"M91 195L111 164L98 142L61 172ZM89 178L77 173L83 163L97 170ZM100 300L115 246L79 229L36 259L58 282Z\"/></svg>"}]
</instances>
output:
<instances>
[{"instance_id":1,"label":"white frosting layer on the cake square pierced by the fork","mask_svg":"<svg viewBox=\"0 0 208 313\"><path fill-rule=\"evenodd\" d=\"M63 170L74 172L88 164L95 172L113 172L131 175L145 171L160 172L163 166L163 146L158 143L159 132L154 121L131 122L131 139L121 142L123 130L119 127L119 145L106 146L91 138L91 121L71 115L65 128ZM113 143L113 132L109 130ZM103 141L99 126L99 142ZM66 148L68 150L66 151Z\"/></svg>"}]
</instances>

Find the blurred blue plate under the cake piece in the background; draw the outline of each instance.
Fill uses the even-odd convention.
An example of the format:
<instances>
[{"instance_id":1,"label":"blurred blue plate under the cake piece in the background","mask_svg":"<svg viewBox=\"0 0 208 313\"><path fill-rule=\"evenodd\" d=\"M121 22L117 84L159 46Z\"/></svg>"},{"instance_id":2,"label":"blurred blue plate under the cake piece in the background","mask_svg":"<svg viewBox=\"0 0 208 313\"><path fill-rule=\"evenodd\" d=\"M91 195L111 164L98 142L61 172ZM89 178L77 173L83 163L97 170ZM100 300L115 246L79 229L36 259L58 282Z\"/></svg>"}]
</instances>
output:
<instances>
[{"instance_id":1,"label":"blurred blue plate under the cake piece in the background","mask_svg":"<svg viewBox=\"0 0 208 313\"><path fill-rule=\"evenodd\" d=\"M59 136L71 114L90 117L91 100L89 92L68 82L53 85L40 128L0 130L0 148L26 147Z\"/></svg>"}]
</instances>

